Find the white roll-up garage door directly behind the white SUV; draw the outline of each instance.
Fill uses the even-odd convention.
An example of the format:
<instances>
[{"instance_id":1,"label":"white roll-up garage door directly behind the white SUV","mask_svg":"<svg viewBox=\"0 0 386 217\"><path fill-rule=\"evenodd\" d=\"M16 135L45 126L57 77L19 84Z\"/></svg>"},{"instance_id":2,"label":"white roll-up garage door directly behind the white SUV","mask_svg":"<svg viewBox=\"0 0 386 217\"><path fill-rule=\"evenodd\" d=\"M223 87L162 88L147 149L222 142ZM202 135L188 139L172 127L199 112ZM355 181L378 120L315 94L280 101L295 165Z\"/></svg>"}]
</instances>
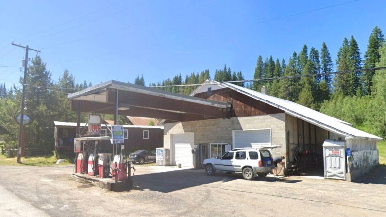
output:
<instances>
[{"instance_id":1,"label":"white roll-up garage door directly behind the white SUV","mask_svg":"<svg viewBox=\"0 0 386 217\"><path fill-rule=\"evenodd\" d=\"M235 148L271 145L271 129L234 131Z\"/></svg>"}]
</instances>

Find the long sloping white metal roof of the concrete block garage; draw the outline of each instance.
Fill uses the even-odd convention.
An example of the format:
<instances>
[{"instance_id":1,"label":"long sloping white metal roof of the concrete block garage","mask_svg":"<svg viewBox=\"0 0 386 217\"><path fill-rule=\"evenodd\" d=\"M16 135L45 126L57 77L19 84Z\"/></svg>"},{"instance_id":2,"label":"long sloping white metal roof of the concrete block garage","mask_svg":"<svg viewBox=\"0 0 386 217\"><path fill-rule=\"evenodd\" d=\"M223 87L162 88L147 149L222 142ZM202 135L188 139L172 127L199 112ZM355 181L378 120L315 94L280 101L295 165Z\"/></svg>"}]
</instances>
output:
<instances>
[{"instance_id":1,"label":"long sloping white metal roof of the concrete block garage","mask_svg":"<svg viewBox=\"0 0 386 217\"><path fill-rule=\"evenodd\" d=\"M213 80L207 80L207 82L217 83ZM229 87L237 92L248 95L256 100L265 102L271 106L277 107L285 111L285 113L289 115L292 115L294 117L298 117L302 120L310 122L316 126L319 126L320 128L326 129L336 134L343 135L346 137L346 139L383 140L378 136L358 130L350 126L351 124L345 121L336 119L335 117L325 115L323 113L307 108L295 102L269 96L254 90L250 90L244 87L237 86L235 84L231 84L231 83L218 83L218 84L223 87Z\"/></svg>"}]
</instances>

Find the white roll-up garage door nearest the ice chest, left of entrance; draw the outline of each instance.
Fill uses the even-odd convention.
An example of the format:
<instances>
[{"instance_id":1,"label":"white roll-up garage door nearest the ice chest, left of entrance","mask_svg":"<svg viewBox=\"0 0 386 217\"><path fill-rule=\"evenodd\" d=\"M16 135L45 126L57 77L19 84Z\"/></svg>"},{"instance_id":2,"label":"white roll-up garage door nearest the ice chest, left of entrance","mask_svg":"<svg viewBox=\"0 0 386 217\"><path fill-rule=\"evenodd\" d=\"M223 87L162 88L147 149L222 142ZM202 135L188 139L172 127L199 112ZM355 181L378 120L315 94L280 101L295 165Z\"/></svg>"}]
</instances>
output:
<instances>
[{"instance_id":1,"label":"white roll-up garage door nearest the ice chest, left of entrance","mask_svg":"<svg viewBox=\"0 0 386 217\"><path fill-rule=\"evenodd\" d=\"M172 134L174 165L193 167L194 133Z\"/></svg>"}]
</instances>

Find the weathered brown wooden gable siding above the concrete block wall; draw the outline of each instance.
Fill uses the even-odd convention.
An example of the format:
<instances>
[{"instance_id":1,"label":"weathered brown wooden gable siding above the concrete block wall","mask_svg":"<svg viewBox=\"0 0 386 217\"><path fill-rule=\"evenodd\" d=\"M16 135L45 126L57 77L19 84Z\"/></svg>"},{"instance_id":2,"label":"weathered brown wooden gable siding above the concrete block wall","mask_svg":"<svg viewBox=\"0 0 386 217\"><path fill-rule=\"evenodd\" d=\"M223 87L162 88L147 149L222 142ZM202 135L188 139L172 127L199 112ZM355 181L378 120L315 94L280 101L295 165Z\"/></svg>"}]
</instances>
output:
<instances>
[{"instance_id":1,"label":"weathered brown wooden gable siding above the concrete block wall","mask_svg":"<svg viewBox=\"0 0 386 217\"><path fill-rule=\"evenodd\" d=\"M231 102L232 110L230 117L248 117L284 113L281 109L255 100L229 88L212 90L211 96L208 96L208 92L203 92L196 94L195 97L220 102Z\"/></svg>"}]
</instances>

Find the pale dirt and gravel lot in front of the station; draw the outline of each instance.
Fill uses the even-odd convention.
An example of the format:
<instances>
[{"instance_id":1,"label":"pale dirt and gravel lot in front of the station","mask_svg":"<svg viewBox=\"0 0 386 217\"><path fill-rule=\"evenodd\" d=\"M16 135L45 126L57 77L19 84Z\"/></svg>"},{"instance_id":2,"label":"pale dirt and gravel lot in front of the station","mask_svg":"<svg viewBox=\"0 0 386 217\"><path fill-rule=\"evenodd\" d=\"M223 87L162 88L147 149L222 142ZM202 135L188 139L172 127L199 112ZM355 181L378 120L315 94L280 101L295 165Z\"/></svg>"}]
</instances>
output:
<instances>
[{"instance_id":1,"label":"pale dirt and gravel lot in front of the station","mask_svg":"<svg viewBox=\"0 0 386 217\"><path fill-rule=\"evenodd\" d=\"M0 216L386 216L386 167L359 183L140 166L135 189L110 192L71 178L73 167L0 167Z\"/></svg>"}]
</instances>

